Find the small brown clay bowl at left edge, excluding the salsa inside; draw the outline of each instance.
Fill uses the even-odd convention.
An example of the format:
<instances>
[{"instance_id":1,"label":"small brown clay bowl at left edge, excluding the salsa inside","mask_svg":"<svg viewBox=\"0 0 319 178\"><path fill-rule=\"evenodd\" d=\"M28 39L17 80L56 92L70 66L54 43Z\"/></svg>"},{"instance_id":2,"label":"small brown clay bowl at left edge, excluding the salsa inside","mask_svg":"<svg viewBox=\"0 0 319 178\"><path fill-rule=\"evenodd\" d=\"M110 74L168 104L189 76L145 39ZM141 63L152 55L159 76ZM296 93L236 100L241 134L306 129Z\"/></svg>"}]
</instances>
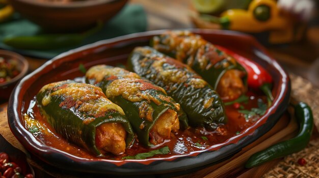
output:
<instances>
[{"instance_id":1,"label":"small brown clay bowl at left edge, excluding the salsa inside","mask_svg":"<svg viewBox=\"0 0 319 178\"><path fill-rule=\"evenodd\" d=\"M28 73L29 63L23 56L11 51L0 50L0 57L17 61L17 68L20 71L20 74L10 81L0 83L0 98L9 99L15 85Z\"/></svg>"}]
</instances>

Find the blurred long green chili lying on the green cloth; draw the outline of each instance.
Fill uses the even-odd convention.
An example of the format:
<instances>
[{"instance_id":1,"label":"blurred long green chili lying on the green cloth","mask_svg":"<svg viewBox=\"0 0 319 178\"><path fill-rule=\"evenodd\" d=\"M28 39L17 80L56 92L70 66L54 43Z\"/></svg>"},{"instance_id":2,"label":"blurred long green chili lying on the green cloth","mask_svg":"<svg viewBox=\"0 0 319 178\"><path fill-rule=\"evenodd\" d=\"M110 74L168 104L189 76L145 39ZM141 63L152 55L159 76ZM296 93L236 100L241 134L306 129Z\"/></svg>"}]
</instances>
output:
<instances>
[{"instance_id":1,"label":"blurred long green chili lying on the green cloth","mask_svg":"<svg viewBox=\"0 0 319 178\"><path fill-rule=\"evenodd\" d=\"M100 30L102 23L84 33L38 34L7 37L3 42L11 47L28 50L50 50L80 44L85 38Z\"/></svg>"}]
</instances>

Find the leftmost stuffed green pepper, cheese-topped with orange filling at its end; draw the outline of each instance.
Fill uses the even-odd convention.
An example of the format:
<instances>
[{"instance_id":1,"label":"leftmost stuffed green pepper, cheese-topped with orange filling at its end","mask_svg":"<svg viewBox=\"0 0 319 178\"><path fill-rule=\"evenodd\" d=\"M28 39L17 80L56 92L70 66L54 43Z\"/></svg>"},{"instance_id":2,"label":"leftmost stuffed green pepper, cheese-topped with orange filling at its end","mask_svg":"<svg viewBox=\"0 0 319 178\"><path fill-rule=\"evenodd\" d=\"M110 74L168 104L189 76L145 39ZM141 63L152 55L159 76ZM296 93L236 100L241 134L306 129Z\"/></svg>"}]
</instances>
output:
<instances>
[{"instance_id":1,"label":"leftmost stuffed green pepper, cheese-topped with orange filling at its end","mask_svg":"<svg viewBox=\"0 0 319 178\"><path fill-rule=\"evenodd\" d=\"M47 84L37 94L37 104L57 133L96 156L124 153L134 140L123 110L94 85L70 80Z\"/></svg>"}]
</instances>

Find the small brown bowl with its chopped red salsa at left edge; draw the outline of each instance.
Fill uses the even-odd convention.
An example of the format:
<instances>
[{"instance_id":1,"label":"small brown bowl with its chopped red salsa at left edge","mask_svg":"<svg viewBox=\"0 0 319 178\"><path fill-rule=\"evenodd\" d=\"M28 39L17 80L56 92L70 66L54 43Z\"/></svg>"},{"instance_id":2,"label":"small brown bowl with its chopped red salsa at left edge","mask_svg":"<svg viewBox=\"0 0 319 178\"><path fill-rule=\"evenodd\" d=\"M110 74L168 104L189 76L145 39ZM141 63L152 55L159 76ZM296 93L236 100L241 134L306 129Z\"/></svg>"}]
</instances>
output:
<instances>
[{"instance_id":1,"label":"small brown bowl with its chopped red salsa at left edge","mask_svg":"<svg viewBox=\"0 0 319 178\"><path fill-rule=\"evenodd\" d=\"M28 72L26 59L11 51L0 50L0 98L8 99L17 82Z\"/></svg>"}]
</instances>

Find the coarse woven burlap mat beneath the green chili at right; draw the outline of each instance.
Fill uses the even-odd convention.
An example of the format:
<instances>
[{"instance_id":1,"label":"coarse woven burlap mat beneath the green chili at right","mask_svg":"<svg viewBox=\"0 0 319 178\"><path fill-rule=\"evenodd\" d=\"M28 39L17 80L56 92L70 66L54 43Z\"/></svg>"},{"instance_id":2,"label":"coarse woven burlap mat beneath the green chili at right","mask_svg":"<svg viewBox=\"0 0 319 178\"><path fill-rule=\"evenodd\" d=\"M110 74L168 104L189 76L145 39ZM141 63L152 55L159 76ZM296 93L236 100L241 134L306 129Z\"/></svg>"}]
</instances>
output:
<instances>
[{"instance_id":1,"label":"coarse woven burlap mat beneath the green chili at right","mask_svg":"<svg viewBox=\"0 0 319 178\"><path fill-rule=\"evenodd\" d=\"M310 105L315 127L319 130L319 89L313 87L309 81L299 76L291 74L290 78L293 81L291 84L291 96ZM306 160L304 166L298 164L298 159L300 158ZM319 177L319 139L311 140L306 149L286 156L262 176L262 178L266 177Z\"/></svg>"}]
</instances>

